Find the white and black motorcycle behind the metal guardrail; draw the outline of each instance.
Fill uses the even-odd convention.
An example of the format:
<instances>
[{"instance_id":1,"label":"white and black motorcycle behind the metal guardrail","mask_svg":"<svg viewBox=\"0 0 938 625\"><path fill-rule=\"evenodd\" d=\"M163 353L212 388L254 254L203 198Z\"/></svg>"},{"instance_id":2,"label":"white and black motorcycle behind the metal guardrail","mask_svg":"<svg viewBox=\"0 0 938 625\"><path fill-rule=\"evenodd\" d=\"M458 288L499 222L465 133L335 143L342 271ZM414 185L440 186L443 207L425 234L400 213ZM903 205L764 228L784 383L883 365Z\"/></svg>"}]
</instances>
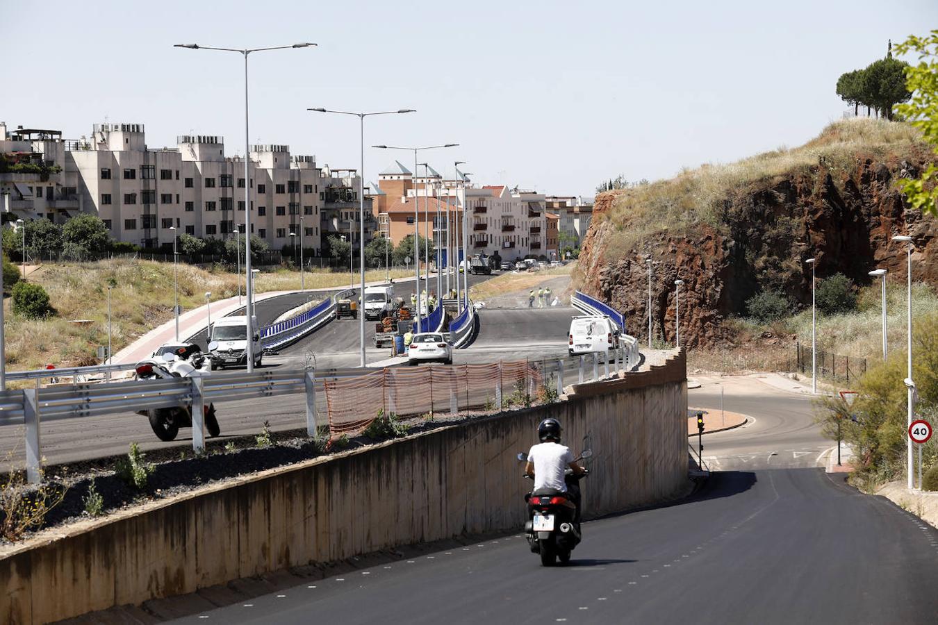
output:
<instances>
[{"instance_id":1,"label":"white and black motorcycle behind the metal guardrail","mask_svg":"<svg viewBox=\"0 0 938 625\"><path fill-rule=\"evenodd\" d=\"M174 352L164 353L161 358L147 358L136 365L137 379L173 379L194 378L211 375L206 358L197 345L181 347ZM174 440L180 427L192 426L192 411L189 406L174 406L139 410L150 421L150 427L157 438L164 441ZM219 421L215 416L215 405L204 407L204 423L208 435L219 436Z\"/></svg>"}]
</instances>

